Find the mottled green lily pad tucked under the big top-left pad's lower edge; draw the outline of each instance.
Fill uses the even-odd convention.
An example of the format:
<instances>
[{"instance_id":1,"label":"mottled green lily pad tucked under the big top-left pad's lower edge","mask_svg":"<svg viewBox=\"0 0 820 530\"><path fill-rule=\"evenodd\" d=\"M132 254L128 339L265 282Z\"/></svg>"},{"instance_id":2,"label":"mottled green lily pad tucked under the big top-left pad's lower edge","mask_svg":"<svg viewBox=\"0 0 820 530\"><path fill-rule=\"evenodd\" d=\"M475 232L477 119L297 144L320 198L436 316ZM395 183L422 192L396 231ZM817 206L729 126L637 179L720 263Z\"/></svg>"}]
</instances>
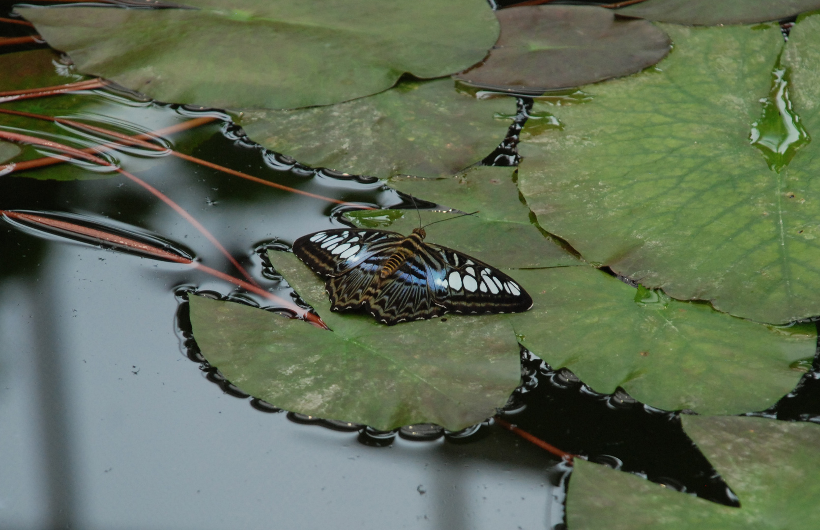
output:
<instances>
[{"instance_id":1,"label":"mottled green lily pad tucked under the big top-left pad's lower edge","mask_svg":"<svg viewBox=\"0 0 820 530\"><path fill-rule=\"evenodd\" d=\"M253 141L303 164L380 179L439 177L489 155L515 106L512 97L478 100L437 79L334 106L244 111L238 122Z\"/></svg>"}]
</instances>

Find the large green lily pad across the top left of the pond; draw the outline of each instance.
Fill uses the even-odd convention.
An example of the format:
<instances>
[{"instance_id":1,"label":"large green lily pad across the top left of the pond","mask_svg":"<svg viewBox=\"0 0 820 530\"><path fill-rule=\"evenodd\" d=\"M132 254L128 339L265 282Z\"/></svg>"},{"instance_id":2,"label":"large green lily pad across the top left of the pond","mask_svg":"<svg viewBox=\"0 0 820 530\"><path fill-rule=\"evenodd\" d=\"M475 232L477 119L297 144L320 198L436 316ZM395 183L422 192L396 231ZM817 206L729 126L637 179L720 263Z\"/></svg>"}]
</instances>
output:
<instances>
[{"instance_id":1,"label":"large green lily pad across the top left of the pond","mask_svg":"<svg viewBox=\"0 0 820 530\"><path fill-rule=\"evenodd\" d=\"M449 75L499 34L484 0L190 0L198 9L18 7L78 70L164 102L294 108Z\"/></svg>"}]
</instances>

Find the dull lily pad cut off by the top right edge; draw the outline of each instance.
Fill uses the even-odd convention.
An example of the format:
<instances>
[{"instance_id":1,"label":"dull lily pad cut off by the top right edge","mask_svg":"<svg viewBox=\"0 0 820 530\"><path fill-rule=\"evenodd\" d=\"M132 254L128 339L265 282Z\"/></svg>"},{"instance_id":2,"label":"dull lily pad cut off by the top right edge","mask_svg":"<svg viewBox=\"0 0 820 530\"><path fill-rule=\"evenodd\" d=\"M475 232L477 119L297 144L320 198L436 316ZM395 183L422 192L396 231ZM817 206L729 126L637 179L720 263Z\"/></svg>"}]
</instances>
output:
<instances>
[{"instance_id":1,"label":"dull lily pad cut off by the top right edge","mask_svg":"<svg viewBox=\"0 0 820 530\"><path fill-rule=\"evenodd\" d=\"M646 0L618 15L686 25L756 24L820 9L818 0Z\"/></svg>"}]
</instances>

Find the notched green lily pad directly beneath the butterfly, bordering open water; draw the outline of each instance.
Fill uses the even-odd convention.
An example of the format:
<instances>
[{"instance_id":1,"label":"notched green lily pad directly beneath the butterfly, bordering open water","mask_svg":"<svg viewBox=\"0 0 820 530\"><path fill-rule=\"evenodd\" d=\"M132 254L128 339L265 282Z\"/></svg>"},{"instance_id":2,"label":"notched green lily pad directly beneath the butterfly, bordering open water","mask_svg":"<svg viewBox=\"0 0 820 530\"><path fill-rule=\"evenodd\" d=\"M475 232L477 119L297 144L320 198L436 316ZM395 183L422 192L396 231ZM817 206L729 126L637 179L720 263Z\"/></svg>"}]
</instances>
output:
<instances>
[{"instance_id":1,"label":"notched green lily pad directly beneath the butterfly, bordering open water","mask_svg":"<svg viewBox=\"0 0 820 530\"><path fill-rule=\"evenodd\" d=\"M231 383L302 414L389 430L434 423L458 430L495 414L520 379L504 315L447 315L385 326L330 311L325 283L296 256L276 270L333 330L233 302L190 297L194 337Z\"/></svg>"}]
</instances>

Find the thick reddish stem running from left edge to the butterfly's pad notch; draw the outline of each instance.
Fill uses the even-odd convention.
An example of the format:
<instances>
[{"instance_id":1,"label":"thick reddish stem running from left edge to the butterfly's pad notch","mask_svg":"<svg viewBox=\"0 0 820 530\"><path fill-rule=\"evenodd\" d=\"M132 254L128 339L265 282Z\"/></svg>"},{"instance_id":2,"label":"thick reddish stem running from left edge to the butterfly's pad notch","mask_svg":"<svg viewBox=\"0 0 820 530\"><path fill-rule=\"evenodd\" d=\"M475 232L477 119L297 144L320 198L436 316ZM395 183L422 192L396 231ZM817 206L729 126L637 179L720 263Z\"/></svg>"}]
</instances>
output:
<instances>
[{"instance_id":1,"label":"thick reddish stem running from left edge to the butterfly's pad notch","mask_svg":"<svg viewBox=\"0 0 820 530\"><path fill-rule=\"evenodd\" d=\"M191 260L185 256L180 256L174 252L166 251L159 247L154 247L146 242L125 238L115 233L104 232L103 230L93 229L81 224L69 223L64 220L52 219L43 215L34 215L22 211L0 210L0 215L4 215L14 220L24 221L28 224L34 224L49 229L57 229L61 232L73 233L75 235L80 235L84 238L91 238L100 242L109 242L113 245L139 251L142 254L147 254L148 256L152 256L160 260L172 261L174 263L181 263L185 265L194 265L194 268L198 270L202 270L203 272L211 274L218 279L225 280L226 282L233 283L237 287L243 288L245 291L253 292L259 296L266 297L268 300L276 303L277 306L294 311L299 318L307 320L318 328L327 328L326 324L321 320L321 318L319 318L318 315L310 313L308 310L297 306L292 301L287 301L282 297L277 297L275 294L268 292L265 289L230 276L230 274L225 274L219 270L212 269L211 267L202 265L197 261Z\"/></svg>"}]
</instances>

